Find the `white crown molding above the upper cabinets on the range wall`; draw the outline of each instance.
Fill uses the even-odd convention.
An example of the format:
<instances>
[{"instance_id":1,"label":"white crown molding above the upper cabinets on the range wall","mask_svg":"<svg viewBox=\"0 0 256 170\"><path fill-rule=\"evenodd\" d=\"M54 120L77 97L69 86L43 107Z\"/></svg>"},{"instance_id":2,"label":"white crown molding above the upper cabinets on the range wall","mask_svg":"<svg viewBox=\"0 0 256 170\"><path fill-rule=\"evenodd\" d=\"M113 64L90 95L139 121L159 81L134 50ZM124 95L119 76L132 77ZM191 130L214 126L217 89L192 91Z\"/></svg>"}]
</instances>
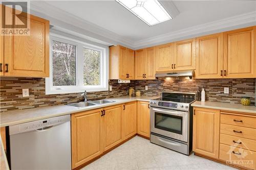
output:
<instances>
[{"instance_id":1,"label":"white crown molding above the upper cabinets on the range wall","mask_svg":"<svg viewBox=\"0 0 256 170\"><path fill-rule=\"evenodd\" d=\"M222 31L228 31L232 29L237 29L246 26L256 25L256 11L232 16L229 18L220 19L217 21L212 21L204 23L202 25L189 27L179 31L162 34L159 36L143 39L134 42L133 46L135 49L148 47L152 45L161 44L163 42L172 42L173 40L178 40L182 38L191 38L195 36L202 36L208 33L217 33Z\"/></svg>"}]
</instances>

